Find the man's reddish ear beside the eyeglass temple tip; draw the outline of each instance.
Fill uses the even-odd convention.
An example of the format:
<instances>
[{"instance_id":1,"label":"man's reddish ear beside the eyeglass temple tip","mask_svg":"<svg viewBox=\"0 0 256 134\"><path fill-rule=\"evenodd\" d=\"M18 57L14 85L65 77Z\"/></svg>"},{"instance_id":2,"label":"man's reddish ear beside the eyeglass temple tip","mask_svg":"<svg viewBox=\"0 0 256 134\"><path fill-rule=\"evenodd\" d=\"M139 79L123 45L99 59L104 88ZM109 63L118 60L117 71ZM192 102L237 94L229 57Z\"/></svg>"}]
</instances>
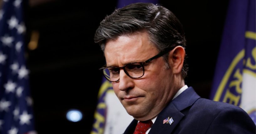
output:
<instances>
[{"instance_id":1,"label":"man's reddish ear beside the eyeglass temple tip","mask_svg":"<svg viewBox=\"0 0 256 134\"><path fill-rule=\"evenodd\" d=\"M169 64L174 74L181 73L185 58L185 49L181 46L175 47L169 53Z\"/></svg>"}]
</instances>

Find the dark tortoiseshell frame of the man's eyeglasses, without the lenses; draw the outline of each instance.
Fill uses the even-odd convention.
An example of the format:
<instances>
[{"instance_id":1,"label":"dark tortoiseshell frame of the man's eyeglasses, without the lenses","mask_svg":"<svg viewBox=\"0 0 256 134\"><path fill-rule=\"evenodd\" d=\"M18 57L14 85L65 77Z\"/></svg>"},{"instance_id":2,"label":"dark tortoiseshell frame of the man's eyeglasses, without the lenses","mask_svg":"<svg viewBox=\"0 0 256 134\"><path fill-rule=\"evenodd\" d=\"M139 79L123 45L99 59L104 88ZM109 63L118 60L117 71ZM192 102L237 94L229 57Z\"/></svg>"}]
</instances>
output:
<instances>
[{"instance_id":1,"label":"dark tortoiseshell frame of the man's eyeglasses, without the lenses","mask_svg":"<svg viewBox=\"0 0 256 134\"><path fill-rule=\"evenodd\" d=\"M164 51L162 51L162 52L159 52L157 55L155 55L154 57L149 58L148 60L146 60L146 61L144 61L144 62L132 62L132 63L128 63L128 64L126 64L126 65L124 65L124 66L122 66L122 67L113 67L113 66L108 66L108 67L118 68L118 69L119 69L119 70L118 70L118 73L120 73L120 70L121 70L121 68L122 68L126 75L128 75L129 77L131 77L131 78L133 78L133 79L138 79L138 78L141 78L141 77L144 76L144 73L145 73L144 64L146 64L146 63L148 63L148 62L150 62L150 61L152 61L152 60L154 60L154 59L156 59L156 58L158 58L158 57L161 57L161 56L165 55L167 52L170 52L171 50L173 50L173 48L174 48L174 47L170 47L170 48L168 48L168 49L166 49L166 50L164 50ZM130 76L129 73L125 70L125 66L130 65L130 64L134 64L134 63L139 63L139 64L141 65L141 67L143 68L143 74L142 74L142 76L140 76L140 77L132 77L132 76ZM104 65L104 66L106 66L106 65ZM108 81L110 81L110 80L106 77L106 75L104 74L104 72L103 72L103 70L104 70L105 68L108 68L108 67L104 67L104 66L103 66L102 68L100 68L99 70L102 71L104 77L105 77ZM119 77L119 79L120 79L120 77ZM117 81L110 81L110 82L118 82L119 79L118 79Z\"/></svg>"}]
</instances>

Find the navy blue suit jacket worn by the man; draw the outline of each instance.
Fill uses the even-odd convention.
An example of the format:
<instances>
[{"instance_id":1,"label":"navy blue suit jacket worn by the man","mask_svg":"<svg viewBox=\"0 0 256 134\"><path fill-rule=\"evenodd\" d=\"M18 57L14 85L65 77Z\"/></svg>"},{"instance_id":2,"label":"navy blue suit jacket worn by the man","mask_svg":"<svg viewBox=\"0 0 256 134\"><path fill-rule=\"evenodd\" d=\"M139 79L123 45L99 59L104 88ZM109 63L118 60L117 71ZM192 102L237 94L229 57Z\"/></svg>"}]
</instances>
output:
<instances>
[{"instance_id":1,"label":"navy blue suit jacket worn by the man","mask_svg":"<svg viewBox=\"0 0 256 134\"><path fill-rule=\"evenodd\" d=\"M172 117L174 122L163 124ZM124 134L133 134L133 120ZM192 87L172 100L158 115L149 134L255 134L256 127L240 107L199 97Z\"/></svg>"}]
</instances>

